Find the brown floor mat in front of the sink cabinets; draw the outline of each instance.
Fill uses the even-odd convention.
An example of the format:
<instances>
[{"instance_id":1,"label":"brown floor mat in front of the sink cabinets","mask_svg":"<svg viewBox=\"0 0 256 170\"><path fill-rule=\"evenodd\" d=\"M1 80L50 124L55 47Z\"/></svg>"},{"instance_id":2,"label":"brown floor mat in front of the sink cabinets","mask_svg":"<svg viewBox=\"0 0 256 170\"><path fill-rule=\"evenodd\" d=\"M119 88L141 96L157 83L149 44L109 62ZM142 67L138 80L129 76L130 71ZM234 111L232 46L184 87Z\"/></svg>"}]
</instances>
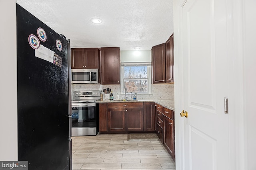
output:
<instances>
[{"instance_id":1,"label":"brown floor mat in front of the sink cabinets","mask_svg":"<svg viewBox=\"0 0 256 170\"><path fill-rule=\"evenodd\" d=\"M129 133L128 141L159 141L156 133Z\"/></svg>"}]
</instances>

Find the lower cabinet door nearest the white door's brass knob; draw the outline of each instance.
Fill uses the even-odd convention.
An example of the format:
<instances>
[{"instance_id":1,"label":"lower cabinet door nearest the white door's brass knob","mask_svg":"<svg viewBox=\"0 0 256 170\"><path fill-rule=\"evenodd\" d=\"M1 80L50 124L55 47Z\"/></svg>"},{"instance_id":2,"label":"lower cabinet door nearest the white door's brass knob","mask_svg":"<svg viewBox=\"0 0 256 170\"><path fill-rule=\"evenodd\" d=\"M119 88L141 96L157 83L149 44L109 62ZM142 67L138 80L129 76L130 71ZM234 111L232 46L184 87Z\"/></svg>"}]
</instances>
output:
<instances>
[{"instance_id":1,"label":"lower cabinet door nearest the white door's brass knob","mask_svg":"<svg viewBox=\"0 0 256 170\"><path fill-rule=\"evenodd\" d=\"M168 152L175 158L174 153L174 121L164 116L164 145L167 147Z\"/></svg>"}]
</instances>

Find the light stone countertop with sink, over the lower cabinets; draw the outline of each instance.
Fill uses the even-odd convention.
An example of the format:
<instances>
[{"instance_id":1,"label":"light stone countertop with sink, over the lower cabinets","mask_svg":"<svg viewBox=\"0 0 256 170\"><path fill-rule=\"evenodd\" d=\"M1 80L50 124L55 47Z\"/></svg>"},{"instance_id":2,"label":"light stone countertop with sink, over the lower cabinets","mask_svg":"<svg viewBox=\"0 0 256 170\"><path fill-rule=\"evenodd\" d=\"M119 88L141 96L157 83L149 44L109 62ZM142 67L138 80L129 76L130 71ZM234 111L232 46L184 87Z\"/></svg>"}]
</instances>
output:
<instances>
[{"instance_id":1,"label":"light stone countertop with sink, over the lower cabinets","mask_svg":"<svg viewBox=\"0 0 256 170\"><path fill-rule=\"evenodd\" d=\"M142 100L104 100L100 101L97 100L96 103L116 103L116 102L155 102L157 104L160 104L167 109L174 111L174 100L172 99L142 99Z\"/></svg>"}]
</instances>

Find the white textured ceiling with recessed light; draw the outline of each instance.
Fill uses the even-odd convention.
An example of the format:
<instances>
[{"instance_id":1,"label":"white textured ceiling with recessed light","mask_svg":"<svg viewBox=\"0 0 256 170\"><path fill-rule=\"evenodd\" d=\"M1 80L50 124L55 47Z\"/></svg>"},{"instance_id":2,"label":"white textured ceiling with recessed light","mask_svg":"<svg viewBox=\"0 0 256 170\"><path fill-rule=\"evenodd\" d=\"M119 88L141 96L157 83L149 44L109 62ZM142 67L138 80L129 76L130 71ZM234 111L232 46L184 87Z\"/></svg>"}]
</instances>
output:
<instances>
[{"instance_id":1,"label":"white textured ceiling with recessed light","mask_svg":"<svg viewBox=\"0 0 256 170\"><path fill-rule=\"evenodd\" d=\"M173 33L173 0L17 0L71 47L150 50ZM99 17L101 24L90 22Z\"/></svg>"}]
</instances>

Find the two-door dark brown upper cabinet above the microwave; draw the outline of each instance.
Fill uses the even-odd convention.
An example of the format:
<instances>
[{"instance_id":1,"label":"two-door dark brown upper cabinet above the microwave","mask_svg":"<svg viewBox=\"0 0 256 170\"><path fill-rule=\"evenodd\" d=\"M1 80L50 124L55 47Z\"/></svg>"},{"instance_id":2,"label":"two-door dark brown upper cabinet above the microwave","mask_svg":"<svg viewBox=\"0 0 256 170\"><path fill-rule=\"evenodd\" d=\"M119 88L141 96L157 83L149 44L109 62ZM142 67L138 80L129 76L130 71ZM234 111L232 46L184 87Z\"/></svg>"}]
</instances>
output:
<instances>
[{"instance_id":1,"label":"two-door dark brown upper cabinet above the microwave","mask_svg":"<svg viewBox=\"0 0 256 170\"><path fill-rule=\"evenodd\" d=\"M71 68L100 68L100 50L98 48L72 48Z\"/></svg>"}]
</instances>

